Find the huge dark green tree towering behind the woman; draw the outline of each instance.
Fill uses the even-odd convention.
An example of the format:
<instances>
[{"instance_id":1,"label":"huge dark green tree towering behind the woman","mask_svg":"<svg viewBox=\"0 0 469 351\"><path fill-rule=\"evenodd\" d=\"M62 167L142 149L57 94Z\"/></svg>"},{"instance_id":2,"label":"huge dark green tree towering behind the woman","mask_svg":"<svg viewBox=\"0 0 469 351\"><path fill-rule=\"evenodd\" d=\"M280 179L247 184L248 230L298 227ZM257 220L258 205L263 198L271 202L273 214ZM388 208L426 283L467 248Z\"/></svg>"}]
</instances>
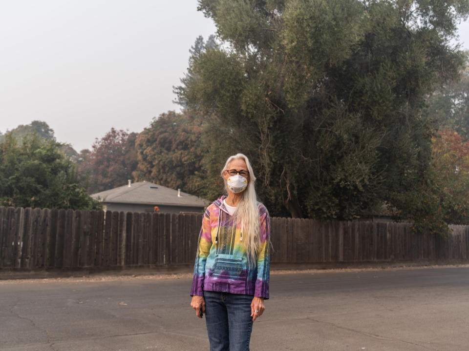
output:
<instances>
[{"instance_id":1,"label":"huge dark green tree towering behind the woman","mask_svg":"<svg viewBox=\"0 0 469 351\"><path fill-rule=\"evenodd\" d=\"M450 39L468 1L200 0L199 10L219 45L193 53L177 92L210 116L213 184L243 152L273 214L354 218L423 176L425 98L463 65Z\"/></svg>"}]
</instances>

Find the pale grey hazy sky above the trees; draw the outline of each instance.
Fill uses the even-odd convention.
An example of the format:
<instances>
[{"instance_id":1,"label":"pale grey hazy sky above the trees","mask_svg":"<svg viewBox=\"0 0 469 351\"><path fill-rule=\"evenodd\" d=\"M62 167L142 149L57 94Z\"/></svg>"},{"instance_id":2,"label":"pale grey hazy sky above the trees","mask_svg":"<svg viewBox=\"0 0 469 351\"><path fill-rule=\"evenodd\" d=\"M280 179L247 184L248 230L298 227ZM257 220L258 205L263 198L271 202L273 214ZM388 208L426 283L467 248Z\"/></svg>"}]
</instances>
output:
<instances>
[{"instance_id":1,"label":"pale grey hazy sky above the trees","mask_svg":"<svg viewBox=\"0 0 469 351\"><path fill-rule=\"evenodd\" d=\"M0 0L0 131L43 120L80 151L168 110L197 36L196 0ZM469 23L460 26L469 48Z\"/></svg>"}]
</instances>

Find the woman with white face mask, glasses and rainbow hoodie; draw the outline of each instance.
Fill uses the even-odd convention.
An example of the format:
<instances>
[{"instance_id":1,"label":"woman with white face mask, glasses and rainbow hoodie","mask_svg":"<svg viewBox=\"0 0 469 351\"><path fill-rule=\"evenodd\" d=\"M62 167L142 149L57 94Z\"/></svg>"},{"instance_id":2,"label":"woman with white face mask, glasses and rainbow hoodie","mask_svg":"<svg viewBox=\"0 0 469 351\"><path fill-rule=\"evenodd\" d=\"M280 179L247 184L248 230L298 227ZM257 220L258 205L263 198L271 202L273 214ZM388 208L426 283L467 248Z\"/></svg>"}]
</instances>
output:
<instances>
[{"instance_id":1,"label":"woman with white face mask, glasses and rainbow hoodie","mask_svg":"<svg viewBox=\"0 0 469 351\"><path fill-rule=\"evenodd\" d=\"M269 298L269 214L243 154L221 172L227 196L205 211L197 243L191 306L205 313L211 351L249 350L253 321Z\"/></svg>"}]
</instances>

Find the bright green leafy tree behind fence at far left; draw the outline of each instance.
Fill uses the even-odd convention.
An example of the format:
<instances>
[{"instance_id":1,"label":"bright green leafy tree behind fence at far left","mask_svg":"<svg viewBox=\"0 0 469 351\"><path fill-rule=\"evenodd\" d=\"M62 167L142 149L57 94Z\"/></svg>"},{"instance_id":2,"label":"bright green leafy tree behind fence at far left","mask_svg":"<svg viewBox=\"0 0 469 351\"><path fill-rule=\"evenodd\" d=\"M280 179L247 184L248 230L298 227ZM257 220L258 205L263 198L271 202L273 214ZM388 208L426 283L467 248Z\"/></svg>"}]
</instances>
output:
<instances>
[{"instance_id":1,"label":"bright green leafy tree behind fence at far left","mask_svg":"<svg viewBox=\"0 0 469 351\"><path fill-rule=\"evenodd\" d=\"M29 134L18 143L8 133L0 143L0 206L96 209L82 188L62 144Z\"/></svg>"}]
</instances>

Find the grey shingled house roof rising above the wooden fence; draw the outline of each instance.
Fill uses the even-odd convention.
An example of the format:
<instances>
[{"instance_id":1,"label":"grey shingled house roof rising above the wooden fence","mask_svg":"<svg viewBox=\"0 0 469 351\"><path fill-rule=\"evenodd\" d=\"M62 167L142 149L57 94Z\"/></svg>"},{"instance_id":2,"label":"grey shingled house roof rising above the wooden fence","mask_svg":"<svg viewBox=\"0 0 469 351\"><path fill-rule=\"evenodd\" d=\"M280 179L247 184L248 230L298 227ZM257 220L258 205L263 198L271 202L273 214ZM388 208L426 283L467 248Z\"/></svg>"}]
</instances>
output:
<instances>
[{"instance_id":1,"label":"grey shingled house roof rising above the wooden fence","mask_svg":"<svg viewBox=\"0 0 469 351\"><path fill-rule=\"evenodd\" d=\"M136 182L130 187L124 185L118 188L92 194L91 197L107 203L131 203L142 205L168 205L168 206L191 206L205 207L209 201L194 195L170 189L155 183Z\"/></svg>"}]
</instances>

